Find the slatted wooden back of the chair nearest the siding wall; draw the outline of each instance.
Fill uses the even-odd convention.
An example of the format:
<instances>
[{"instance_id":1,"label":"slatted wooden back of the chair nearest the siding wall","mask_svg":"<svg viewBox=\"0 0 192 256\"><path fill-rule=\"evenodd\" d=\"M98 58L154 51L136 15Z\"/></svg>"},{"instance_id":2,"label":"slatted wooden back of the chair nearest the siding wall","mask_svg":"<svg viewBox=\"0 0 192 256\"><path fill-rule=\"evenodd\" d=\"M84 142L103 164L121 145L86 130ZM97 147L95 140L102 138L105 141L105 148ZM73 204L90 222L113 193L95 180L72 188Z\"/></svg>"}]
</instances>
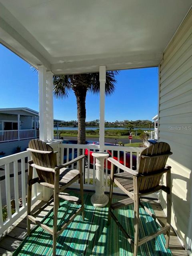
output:
<instances>
[{"instance_id":1,"label":"slatted wooden back of the chair nearest the siding wall","mask_svg":"<svg viewBox=\"0 0 192 256\"><path fill-rule=\"evenodd\" d=\"M148 175L157 174L165 168L170 146L166 142L158 142L144 149L140 155L140 163L138 173L140 176L139 191L152 190L157 187L162 178L162 174L148 177Z\"/></svg>"}]
</instances>

